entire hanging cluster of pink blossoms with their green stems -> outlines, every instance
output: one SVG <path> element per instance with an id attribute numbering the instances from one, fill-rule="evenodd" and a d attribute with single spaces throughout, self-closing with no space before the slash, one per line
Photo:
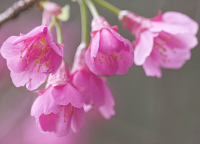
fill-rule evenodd
<path id="1" fill-rule="evenodd" d="M 91 0 L 79 0 L 82 42 L 70 71 L 63 60 L 60 26 L 60 21 L 69 17 L 68 6 L 41 1 L 42 25 L 27 34 L 9 37 L 1 47 L 16 87 L 26 85 L 28 90 L 36 90 L 49 76 L 45 90 L 37 91 L 39 96 L 31 109 L 41 132 L 54 132 L 58 137 L 70 130 L 78 133 L 90 109 L 110 119 L 115 115 L 115 101 L 102 75 L 125 75 L 135 63 L 143 66 L 147 76 L 160 78 L 161 68 L 181 68 L 198 44 L 198 24 L 184 14 L 159 11 L 158 16 L 148 19 L 103 0 L 93 1 L 114 12 L 135 41 L 121 36 L 118 26 L 111 26 L 100 16 Z M 90 42 L 85 3 L 93 15 Z M 51 34 L 53 26 L 57 42 Z"/>

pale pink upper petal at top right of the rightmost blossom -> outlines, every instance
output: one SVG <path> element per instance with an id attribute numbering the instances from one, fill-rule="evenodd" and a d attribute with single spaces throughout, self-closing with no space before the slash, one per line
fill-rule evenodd
<path id="1" fill-rule="evenodd" d="M 170 24 L 185 26 L 190 30 L 190 33 L 192 33 L 193 35 L 196 35 L 198 32 L 198 23 L 192 20 L 189 16 L 180 12 L 166 12 L 163 14 L 162 20 Z"/>

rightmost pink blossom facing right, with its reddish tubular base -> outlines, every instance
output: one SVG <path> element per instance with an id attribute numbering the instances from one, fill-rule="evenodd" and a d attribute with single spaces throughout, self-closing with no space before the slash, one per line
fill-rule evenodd
<path id="1" fill-rule="evenodd" d="M 147 19 L 121 11 L 119 20 L 135 36 L 136 65 L 142 65 L 147 76 L 161 77 L 161 67 L 181 68 L 198 44 L 198 23 L 179 12 L 166 12 Z"/>

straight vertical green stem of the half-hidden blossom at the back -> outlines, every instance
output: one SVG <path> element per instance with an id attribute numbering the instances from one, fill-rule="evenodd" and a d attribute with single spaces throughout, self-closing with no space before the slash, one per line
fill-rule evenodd
<path id="1" fill-rule="evenodd" d="M 85 2 L 80 2 L 80 11 L 81 11 L 81 28 L 82 28 L 82 42 L 88 45 L 88 27 L 87 27 L 87 11 Z"/>

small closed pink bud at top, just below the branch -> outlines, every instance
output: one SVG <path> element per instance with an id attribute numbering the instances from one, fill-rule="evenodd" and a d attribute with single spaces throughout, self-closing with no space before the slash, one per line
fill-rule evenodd
<path id="1" fill-rule="evenodd" d="M 41 1 L 40 5 L 43 8 L 43 13 L 42 13 L 43 25 L 48 26 L 51 22 L 51 16 L 57 16 L 62 12 L 62 8 L 54 2 Z"/>

